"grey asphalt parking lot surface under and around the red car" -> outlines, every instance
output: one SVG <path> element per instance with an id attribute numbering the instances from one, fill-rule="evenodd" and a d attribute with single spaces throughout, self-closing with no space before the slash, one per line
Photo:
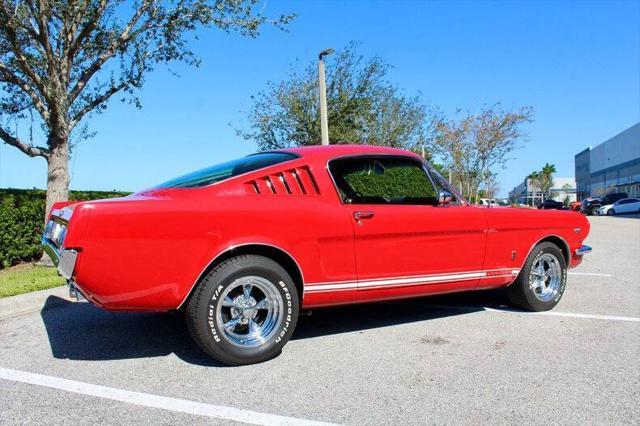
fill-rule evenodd
<path id="1" fill-rule="evenodd" d="M 0 321 L 0 423 L 638 424 L 640 217 L 590 220 L 550 313 L 500 292 L 318 310 L 259 365 L 216 365 L 168 314 Z"/>

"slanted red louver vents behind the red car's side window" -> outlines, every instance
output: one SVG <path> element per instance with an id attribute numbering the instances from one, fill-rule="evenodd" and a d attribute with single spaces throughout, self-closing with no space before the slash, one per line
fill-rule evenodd
<path id="1" fill-rule="evenodd" d="M 266 175 L 243 184 L 248 194 L 318 195 L 318 185 L 307 166 Z"/>

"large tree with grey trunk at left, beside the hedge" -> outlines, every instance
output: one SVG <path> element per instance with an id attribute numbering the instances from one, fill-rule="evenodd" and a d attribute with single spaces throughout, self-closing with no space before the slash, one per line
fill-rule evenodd
<path id="1" fill-rule="evenodd" d="M 200 27 L 255 37 L 263 24 L 292 18 L 269 19 L 258 2 L 0 0 L 0 139 L 46 159 L 47 211 L 67 198 L 69 140 L 88 114 L 116 94 L 139 106 L 136 89 L 158 64 L 197 65 L 188 37 Z M 33 116 L 42 143 L 11 130 Z"/>

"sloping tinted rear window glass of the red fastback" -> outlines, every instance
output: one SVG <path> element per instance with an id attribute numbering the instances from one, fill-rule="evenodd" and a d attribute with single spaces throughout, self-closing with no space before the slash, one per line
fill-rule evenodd
<path id="1" fill-rule="evenodd" d="M 217 164 L 161 183 L 156 188 L 196 188 L 298 158 L 287 152 L 264 152 Z"/>

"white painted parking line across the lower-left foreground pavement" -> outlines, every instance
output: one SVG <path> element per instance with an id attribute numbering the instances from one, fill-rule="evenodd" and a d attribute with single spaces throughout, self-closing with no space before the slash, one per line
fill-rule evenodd
<path id="1" fill-rule="evenodd" d="M 91 383 L 76 380 L 62 379 L 60 377 L 45 376 L 42 374 L 28 373 L 26 371 L 11 370 L 0 367 L 0 379 L 13 382 L 28 383 L 30 385 L 44 386 L 73 392 L 81 395 L 95 396 L 98 398 L 126 402 L 141 405 L 143 407 L 159 408 L 162 410 L 192 414 L 195 416 L 212 417 L 216 419 L 232 420 L 256 425 L 328 425 L 330 423 L 297 419 L 295 417 L 278 416 L 274 414 L 258 413 L 256 411 L 242 410 L 240 408 L 211 405 L 186 399 L 170 398 L 160 395 L 152 395 L 142 392 L 132 392 L 108 386 L 93 385 Z"/>

